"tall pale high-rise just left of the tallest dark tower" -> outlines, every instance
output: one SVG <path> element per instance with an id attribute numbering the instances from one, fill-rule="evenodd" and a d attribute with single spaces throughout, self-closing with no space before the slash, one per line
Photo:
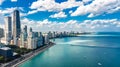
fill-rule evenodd
<path id="1" fill-rule="evenodd" d="M 11 17 L 5 17 L 5 41 L 6 45 L 10 43 L 10 40 L 12 39 L 12 21 Z"/>

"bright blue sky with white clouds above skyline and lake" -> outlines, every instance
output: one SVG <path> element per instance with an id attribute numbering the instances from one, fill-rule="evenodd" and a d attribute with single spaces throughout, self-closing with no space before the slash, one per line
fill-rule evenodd
<path id="1" fill-rule="evenodd" d="M 15 9 L 34 31 L 120 32 L 120 0 L 0 0 L 0 27 Z"/>

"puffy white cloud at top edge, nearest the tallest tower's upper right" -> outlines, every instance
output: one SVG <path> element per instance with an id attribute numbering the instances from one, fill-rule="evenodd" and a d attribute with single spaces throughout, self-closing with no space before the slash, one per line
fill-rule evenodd
<path id="1" fill-rule="evenodd" d="M 68 0 L 62 3 L 56 3 L 55 0 L 37 0 L 30 6 L 31 9 L 38 11 L 62 11 L 64 9 L 78 7 L 82 5 L 82 2 L 76 2 L 75 0 Z"/>

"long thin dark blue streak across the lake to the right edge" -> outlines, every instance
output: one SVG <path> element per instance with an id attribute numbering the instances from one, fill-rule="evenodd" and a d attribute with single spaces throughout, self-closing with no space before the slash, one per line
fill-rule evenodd
<path id="1" fill-rule="evenodd" d="M 113 49 L 120 49 L 120 47 L 118 47 L 118 46 L 96 46 L 96 45 L 71 45 L 71 46 L 89 47 L 89 48 L 113 48 Z"/>

